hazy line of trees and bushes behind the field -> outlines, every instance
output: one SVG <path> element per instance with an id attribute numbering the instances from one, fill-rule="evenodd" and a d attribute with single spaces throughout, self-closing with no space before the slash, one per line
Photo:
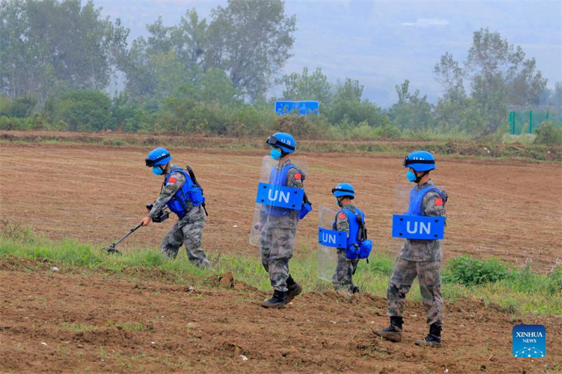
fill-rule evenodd
<path id="1" fill-rule="evenodd" d="M 162 18 L 129 46 L 129 29 L 89 0 L 9 0 L 0 6 L 0 128 L 121 129 L 248 135 L 291 128 L 311 137 L 400 138 L 410 134 L 494 135 L 509 105 L 562 106 L 520 46 L 497 32 L 473 33 L 466 62 L 448 52 L 434 74 L 433 105 L 396 86 L 383 109 L 362 98 L 356 79 L 331 83 L 317 68 L 276 76 L 291 57 L 296 17 L 282 0 L 230 0 L 209 20 L 195 9 L 177 25 Z M 119 93 L 110 93 L 116 81 Z M 268 98 L 273 85 L 282 98 Z M 273 102 L 318 100 L 320 115 L 273 114 Z"/>

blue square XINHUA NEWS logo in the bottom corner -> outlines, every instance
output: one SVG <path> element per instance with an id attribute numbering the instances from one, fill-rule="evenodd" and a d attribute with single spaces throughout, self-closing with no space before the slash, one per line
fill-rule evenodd
<path id="1" fill-rule="evenodd" d="M 513 351 L 517 358 L 544 357 L 547 353 L 547 330 L 542 325 L 515 325 Z"/>

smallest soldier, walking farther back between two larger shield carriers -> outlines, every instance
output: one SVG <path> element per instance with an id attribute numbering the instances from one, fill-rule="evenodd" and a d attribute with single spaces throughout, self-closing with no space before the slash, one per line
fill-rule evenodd
<path id="1" fill-rule="evenodd" d="M 356 251 L 348 251 L 348 248 L 357 248 L 359 245 L 358 234 L 364 229 L 365 213 L 351 203 L 351 200 L 355 199 L 355 191 L 349 183 L 339 183 L 332 189 L 332 194 L 336 196 L 337 204 L 341 208 L 336 214 L 333 229 L 346 232 L 347 236 L 346 248 L 337 249 L 338 263 L 336 272 L 332 276 L 332 283 L 336 290 L 345 289 L 349 293 L 358 293 L 359 287 L 353 284 L 351 277 L 355 274 L 359 258 Z M 358 218 L 361 219 L 361 226 Z"/>

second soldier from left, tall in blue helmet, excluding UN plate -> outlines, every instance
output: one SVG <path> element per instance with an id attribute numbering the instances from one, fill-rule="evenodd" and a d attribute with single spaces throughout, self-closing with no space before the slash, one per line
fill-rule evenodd
<path id="1" fill-rule="evenodd" d="M 271 146 L 271 157 L 278 161 L 270 173 L 270 185 L 303 189 L 305 175 L 290 159 L 296 148 L 292 135 L 275 133 L 266 140 Z M 261 303 L 262 307 L 278 308 L 292 301 L 302 292 L 289 273 L 289 260 L 293 257 L 299 211 L 277 206 L 262 206 L 260 212 L 259 247 L 261 263 L 269 273 L 273 297 Z"/>

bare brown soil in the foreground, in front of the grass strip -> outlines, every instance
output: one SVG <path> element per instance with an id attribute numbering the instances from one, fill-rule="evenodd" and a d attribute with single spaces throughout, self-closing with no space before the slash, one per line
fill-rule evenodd
<path id="1" fill-rule="evenodd" d="M 446 302 L 443 347 L 416 347 L 424 309 L 407 301 L 403 341 L 375 338 L 386 300 L 304 293 L 284 309 L 237 287 L 177 286 L 139 277 L 0 261 L 0 372 L 541 373 L 560 370 L 562 317 L 512 319 L 483 302 Z M 228 284 L 221 285 L 222 279 Z M 547 356 L 515 359 L 511 329 L 541 323 Z M 244 359 L 245 358 L 245 359 Z M 448 371 L 447 371 L 448 370 Z"/>

